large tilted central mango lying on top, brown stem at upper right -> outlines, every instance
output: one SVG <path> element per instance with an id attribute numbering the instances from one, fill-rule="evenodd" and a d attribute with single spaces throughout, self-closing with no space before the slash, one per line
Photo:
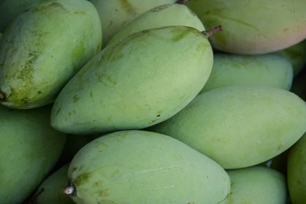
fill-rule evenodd
<path id="1" fill-rule="evenodd" d="M 157 124 L 190 103 L 212 66 L 211 45 L 194 28 L 134 33 L 106 47 L 74 75 L 54 103 L 51 125 L 88 135 Z"/>

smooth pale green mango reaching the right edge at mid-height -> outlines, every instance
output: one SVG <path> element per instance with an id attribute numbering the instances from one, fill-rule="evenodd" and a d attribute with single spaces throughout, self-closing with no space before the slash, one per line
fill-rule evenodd
<path id="1" fill-rule="evenodd" d="M 306 105 L 297 95 L 267 86 L 229 86 L 197 95 L 182 111 L 150 127 L 237 169 L 267 161 L 306 131 Z"/>

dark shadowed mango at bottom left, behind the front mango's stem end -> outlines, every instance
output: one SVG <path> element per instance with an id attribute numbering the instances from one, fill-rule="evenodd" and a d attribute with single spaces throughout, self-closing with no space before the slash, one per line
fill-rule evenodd
<path id="1" fill-rule="evenodd" d="M 67 185 L 69 164 L 49 175 L 36 190 L 33 200 L 35 204 L 73 204 L 73 200 L 62 194 L 63 186 Z"/>

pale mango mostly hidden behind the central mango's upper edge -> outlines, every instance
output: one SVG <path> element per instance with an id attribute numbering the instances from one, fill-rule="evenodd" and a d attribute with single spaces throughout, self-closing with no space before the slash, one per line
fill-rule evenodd
<path id="1" fill-rule="evenodd" d="M 199 31 L 205 31 L 203 23 L 187 6 L 176 3 L 164 4 L 135 18 L 111 38 L 107 46 L 132 33 L 170 25 L 185 25 Z"/>

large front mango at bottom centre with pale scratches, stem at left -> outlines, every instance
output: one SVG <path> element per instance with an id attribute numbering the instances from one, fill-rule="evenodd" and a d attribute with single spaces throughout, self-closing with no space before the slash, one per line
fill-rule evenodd
<path id="1" fill-rule="evenodd" d="M 71 161 L 68 181 L 77 204 L 225 203 L 230 192 L 216 162 L 169 136 L 137 130 L 85 145 Z"/>

